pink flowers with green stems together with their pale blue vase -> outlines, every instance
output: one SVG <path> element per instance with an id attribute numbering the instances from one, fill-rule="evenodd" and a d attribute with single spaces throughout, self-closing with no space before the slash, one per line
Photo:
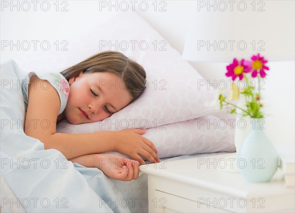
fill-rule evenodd
<path id="1" fill-rule="evenodd" d="M 260 54 L 251 57 L 251 60 L 238 61 L 234 59 L 227 68 L 227 77 L 231 77 L 235 81 L 238 77 L 237 83 L 244 81 L 245 87 L 239 91 L 239 89 L 234 86 L 232 88 L 232 93 L 240 93 L 242 96 L 242 102 L 239 104 L 233 104 L 229 102 L 226 96 L 219 95 L 219 103 L 222 108 L 224 105 L 231 105 L 234 108 L 230 113 L 236 113 L 237 118 L 240 117 L 250 117 L 253 119 L 251 121 L 253 128 L 251 133 L 242 142 L 239 149 L 237 149 L 237 167 L 241 175 L 248 182 L 267 182 L 274 175 L 278 166 L 278 154 L 269 139 L 264 133 L 264 127 L 259 125 L 265 123 L 262 118 L 264 114 L 261 111 L 263 104 L 261 103 L 261 78 L 266 77 L 266 70 L 269 67 L 266 66 L 267 61 Z M 258 78 L 258 87 L 256 88 L 255 78 Z M 235 85 L 235 84 L 233 84 Z M 235 89 L 234 89 L 235 88 Z M 233 95 L 231 95 L 233 96 Z M 240 100 L 239 100 L 240 101 Z M 236 122 L 237 123 L 237 122 Z M 250 123 L 248 123 L 250 124 Z M 238 138 L 238 134 L 242 134 L 245 131 L 237 131 L 235 135 L 235 144 Z M 236 148 L 237 145 L 236 145 Z"/>

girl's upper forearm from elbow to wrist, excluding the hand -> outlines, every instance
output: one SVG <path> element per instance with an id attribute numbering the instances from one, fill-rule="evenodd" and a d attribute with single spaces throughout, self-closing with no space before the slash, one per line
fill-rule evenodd
<path id="1" fill-rule="evenodd" d="M 59 150 L 67 159 L 81 155 L 115 151 L 116 132 L 102 131 L 89 134 L 55 133 L 41 139 L 44 149 Z"/>

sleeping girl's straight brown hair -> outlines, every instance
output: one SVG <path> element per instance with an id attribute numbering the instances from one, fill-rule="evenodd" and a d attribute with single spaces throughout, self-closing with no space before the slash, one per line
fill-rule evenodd
<path id="1" fill-rule="evenodd" d="M 116 51 L 100 52 L 88 59 L 60 72 L 67 81 L 70 77 L 83 73 L 111 72 L 118 75 L 126 84 L 133 100 L 146 90 L 146 71 L 135 61 Z"/>

